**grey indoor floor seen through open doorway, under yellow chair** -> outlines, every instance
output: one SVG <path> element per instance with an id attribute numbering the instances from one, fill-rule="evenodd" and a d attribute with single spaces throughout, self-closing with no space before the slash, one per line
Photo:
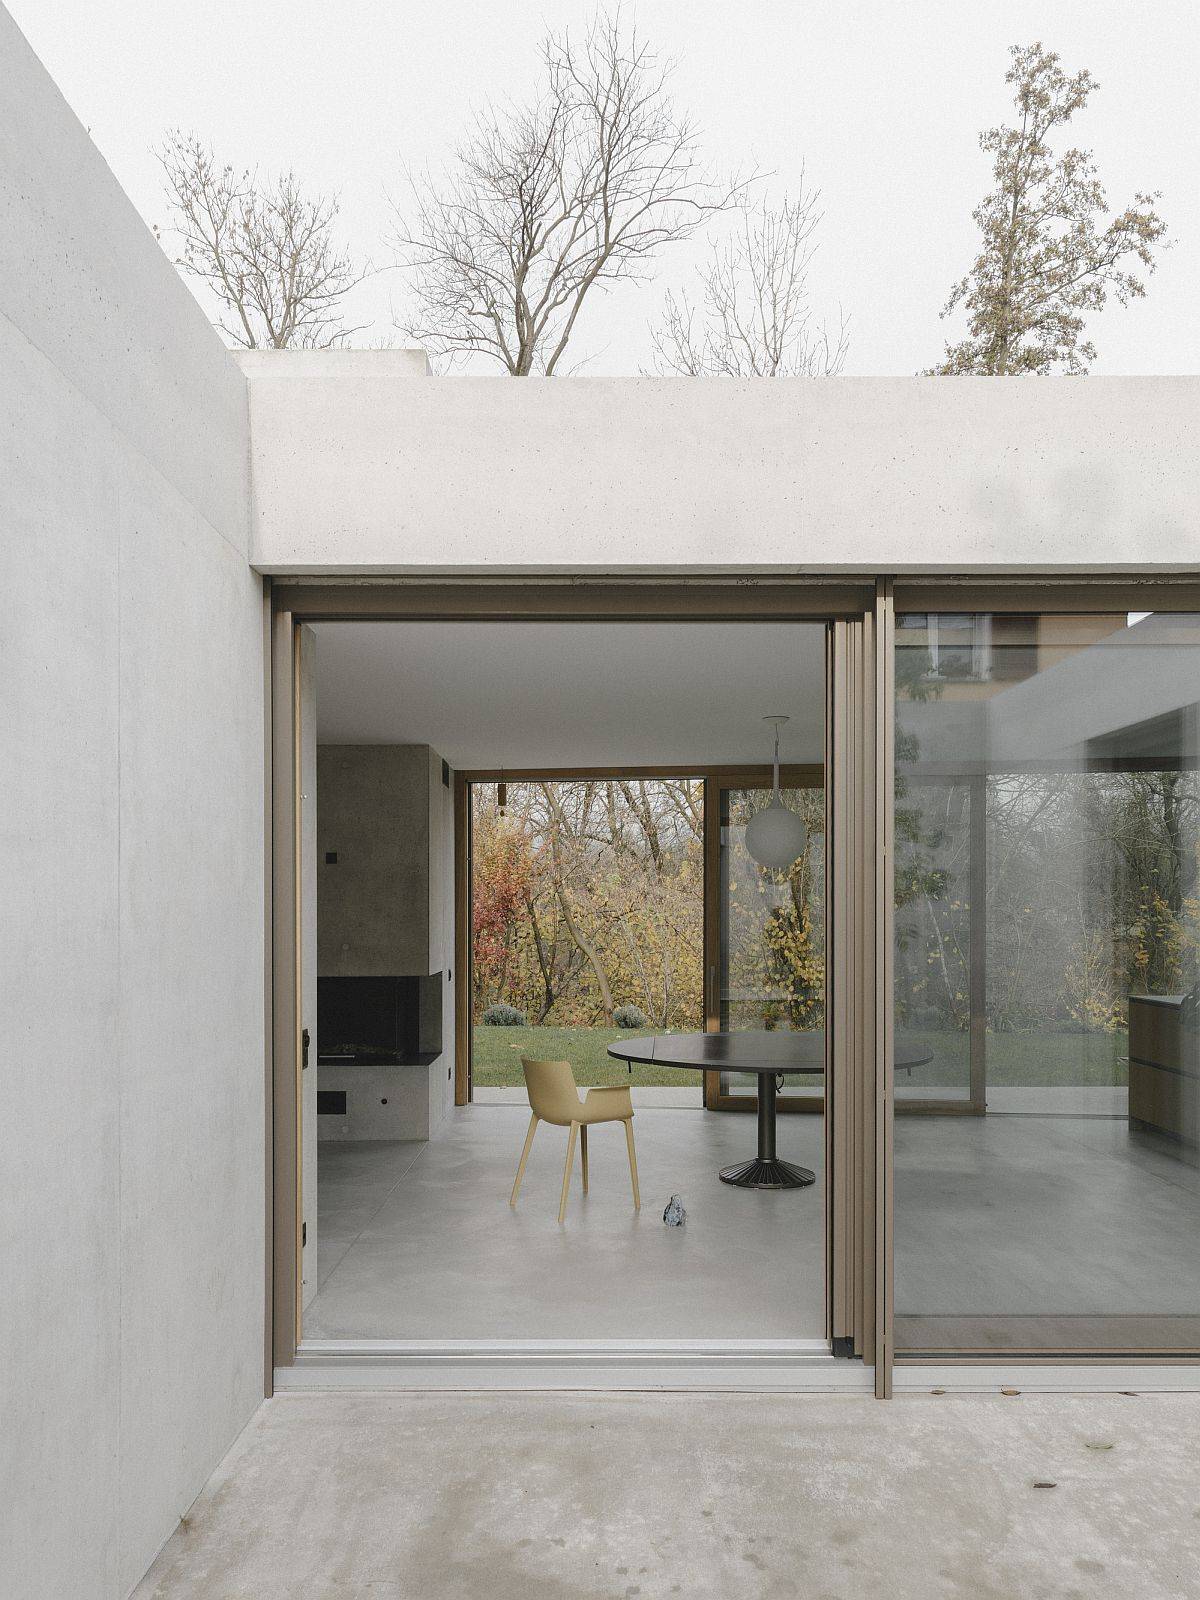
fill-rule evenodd
<path id="1" fill-rule="evenodd" d="M 717 1170 L 754 1155 L 752 1117 L 638 1110 L 642 1211 L 624 1130 L 590 1133 L 558 1226 L 566 1133 L 538 1130 L 509 1206 L 525 1106 L 472 1106 L 427 1144 L 320 1146 L 318 1293 L 307 1339 L 822 1339 L 822 1118 L 779 1120 L 779 1152 L 810 1189 L 731 1189 Z M 685 1227 L 666 1227 L 677 1192 Z"/>

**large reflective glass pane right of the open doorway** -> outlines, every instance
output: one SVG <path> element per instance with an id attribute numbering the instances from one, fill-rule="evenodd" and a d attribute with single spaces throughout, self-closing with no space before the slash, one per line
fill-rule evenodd
<path id="1" fill-rule="evenodd" d="M 899 1350 L 1200 1347 L 1198 694 L 1194 616 L 898 619 Z"/>

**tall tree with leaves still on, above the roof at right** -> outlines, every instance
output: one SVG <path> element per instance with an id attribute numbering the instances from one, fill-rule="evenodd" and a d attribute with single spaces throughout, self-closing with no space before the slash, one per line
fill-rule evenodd
<path id="1" fill-rule="evenodd" d="M 1010 51 L 1018 120 L 979 136 L 995 187 L 976 208 L 981 246 L 950 291 L 942 317 L 968 312 L 968 336 L 947 344 L 934 373 L 1086 373 L 1096 358 L 1083 338 L 1088 314 L 1112 293 L 1122 306 L 1146 294 L 1138 267 L 1152 272 L 1166 224 L 1158 194 L 1138 192 L 1106 221 L 1107 202 L 1090 150 L 1058 158 L 1050 141 L 1098 86 L 1090 72 L 1069 77 L 1040 43 Z"/>

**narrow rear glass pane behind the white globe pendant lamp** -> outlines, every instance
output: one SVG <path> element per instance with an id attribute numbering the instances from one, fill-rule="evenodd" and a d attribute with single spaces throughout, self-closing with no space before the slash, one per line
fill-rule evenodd
<path id="1" fill-rule="evenodd" d="M 826 1019 L 826 819 L 821 789 L 782 789 L 805 822 L 805 848 L 786 872 L 760 867 L 746 829 L 771 789 L 722 789 L 717 974 L 722 1030 L 819 1032 Z M 784 1078 L 781 1094 L 818 1096 L 819 1078 Z M 722 1074 L 723 1094 L 754 1096 L 754 1074 Z"/>

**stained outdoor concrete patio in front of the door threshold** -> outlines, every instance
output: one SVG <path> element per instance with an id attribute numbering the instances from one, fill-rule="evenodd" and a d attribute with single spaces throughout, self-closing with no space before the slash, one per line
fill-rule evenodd
<path id="1" fill-rule="evenodd" d="M 1200 1395 L 285 1395 L 134 1600 L 1182 1600 L 1198 1445 Z"/>

